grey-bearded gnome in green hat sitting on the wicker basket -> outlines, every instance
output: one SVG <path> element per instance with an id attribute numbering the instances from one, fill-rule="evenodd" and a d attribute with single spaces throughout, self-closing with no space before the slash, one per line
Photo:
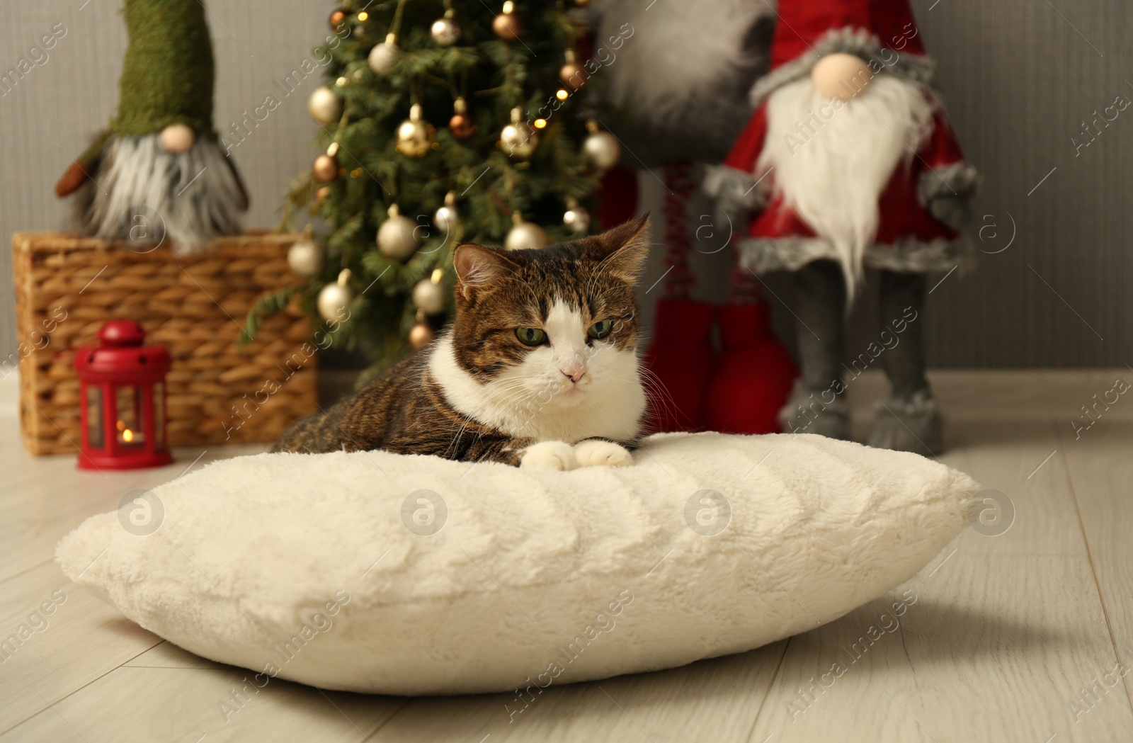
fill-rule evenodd
<path id="1" fill-rule="evenodd" d="M 213 128 L 213 53 L 198 0 L 126 0 L 118 113 L 56 185 L 85 236 L 198 251 L 248 208 Z M 142 228 L 142 229 L 138 229 Z"/>

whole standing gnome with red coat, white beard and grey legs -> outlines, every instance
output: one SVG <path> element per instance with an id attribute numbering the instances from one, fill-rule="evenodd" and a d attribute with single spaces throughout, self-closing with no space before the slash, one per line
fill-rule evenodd
<path id="1" fill-rule="evenodd" d="M 979 177 L 934 70 L 908 0 L 780 0 L 755 113 L 705 178 L 743 265 L 794 273 L 802 376 L 780 413 L 786 433 L 849 438 L 843 373 L 877 364 L 892 398 L 870 445 L 943 449 L 925 374 L 927 274 L 966 263 L 959 230 Z M 845 366 L 845 313 L 867 266 L 879 270 L 883 330 Z"/>

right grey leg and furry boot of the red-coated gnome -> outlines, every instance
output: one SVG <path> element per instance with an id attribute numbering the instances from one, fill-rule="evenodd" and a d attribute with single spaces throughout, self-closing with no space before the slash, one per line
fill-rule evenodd
<path id="1" fill-rule="evenodd" d="M 925 374 L 926 285 L 923 273 L 881 272 L 881 327 L 892 328 L 896 344 L 881 353 L 893 394 L 877 407 L 870 446 L 925 455 L 944 451 L 944 419 Z"/>

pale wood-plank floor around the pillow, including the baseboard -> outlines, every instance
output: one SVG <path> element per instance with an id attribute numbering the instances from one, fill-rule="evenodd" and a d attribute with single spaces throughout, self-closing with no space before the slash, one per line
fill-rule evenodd
<path id="1" fill-rule="evenodd" d="M 1133 675 L 1124 676 L 1133 665 L 1133 396 L 1094 413 L 1088 429 L 1072 426 L 1089 422 L 1082 405 L 1119 376 L 1133 379 L 1127 369 L 936 375 L 949 413 L 943 460 L 1004 493 L 1014 516 L 998 536 L 968 530 L 895 590 L 915 597 L 902 616 L 881 599 L 742 655 L 552 688 L 511 721 L 511 694 L 401 699 L 284 681 L 225 719 L 220 701 L 245 672 L 125 620 L 66 580 L 52 550 L 131 489 L 258 450 L 185 450 L 161 470 L 78 472 L 73 456 L 24 451 L 8 379 L 0 639 L 24 622 L 40 630 L 0 664 L 0 743 L 1133 741 Z M 880 391 L 876 377 L 851 385 L 862 435 Z M 29 620 L 43 601 L 56 603 L 53 614 Z M 853 650 L 871 626 L 880 639 Z"/>

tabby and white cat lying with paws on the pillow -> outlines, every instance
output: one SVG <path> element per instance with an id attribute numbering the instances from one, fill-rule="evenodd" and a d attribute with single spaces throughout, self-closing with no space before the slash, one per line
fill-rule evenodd
<path id="1" fill-rule="evenodd" d="M 632 464 L 646 410 L 633 285 L 648 249 L 648 216 L 537 250 L 460 246 L 457 316 L 441 338 L 293 424 L 273 451 Z"/>

